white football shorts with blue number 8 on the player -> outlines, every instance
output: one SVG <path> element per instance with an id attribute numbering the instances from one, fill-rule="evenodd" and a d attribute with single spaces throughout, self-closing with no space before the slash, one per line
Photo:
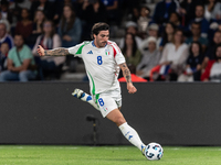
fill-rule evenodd
<path id="1" fill-rule="evenodd" d="M 96 96 L 93 96 L 93 100 L 98 106 L 103 118 L 105 118 L 110 111 L 122 107 L 120 88 L 104 91 Z"/>

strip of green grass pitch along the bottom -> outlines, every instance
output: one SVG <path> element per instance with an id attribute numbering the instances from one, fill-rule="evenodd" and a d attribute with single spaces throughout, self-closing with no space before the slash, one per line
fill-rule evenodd
<path id="1" fill-rule="evenodd" d="M 0 165 L 221 165 L 221 147 L 162 147 L 148 161 L 134 146 L 0 145 Z"/>

